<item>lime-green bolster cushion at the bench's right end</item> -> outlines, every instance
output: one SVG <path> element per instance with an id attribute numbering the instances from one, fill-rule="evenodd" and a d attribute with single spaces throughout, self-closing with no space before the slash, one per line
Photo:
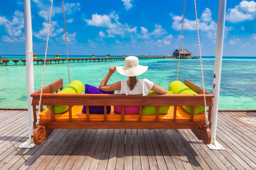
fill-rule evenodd
<path id="1" fill-rule="evenodd" d="M 181 81 L 173 81 L 169 84 L 169 91 L 174 91 L 174 94 L 197 94 Z M 188 113 L 191 114 L 191 106 L 182 106 Z M 194 115 L 198 115 L 204 111 L 204 106 L 195 106 Z"/>

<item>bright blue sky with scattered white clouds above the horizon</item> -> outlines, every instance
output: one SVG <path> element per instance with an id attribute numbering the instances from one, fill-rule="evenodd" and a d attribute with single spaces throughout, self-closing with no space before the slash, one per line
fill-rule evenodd
<path id="1" fill-rule="evenodd" d="M 179 48 L 183 1 L 65 0 L 69 55 L 172 55 Z M 197 0 L 203 56 L 215 55 L 218 1 Z M 50 0 L 31 0 L 33 53 L 44 55 Z M 256 56 L 256 1 L 228 0 L 223 56 Z M 0 55 L 25 55 L 23 1 L 0 6 Z M 199 55 L 193 0 L 186 1 L 181 49 Z M 49 55 L 65 55 L 62 1 L 53 1 Z"/>

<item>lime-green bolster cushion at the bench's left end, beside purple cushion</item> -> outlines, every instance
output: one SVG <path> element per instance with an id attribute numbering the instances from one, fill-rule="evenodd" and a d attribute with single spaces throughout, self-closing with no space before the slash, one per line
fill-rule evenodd
<path id="1" fill-rule="evenodd" d="M 82 94 L 84 86 L 81 81 L 72 81 L 65 89 L 58 92 L 58 94 Z M 47 106 L 50 110 L 50 106 Z M 54 106 L 54 113 L 60 114 L 68 110 L 68 106 Z"/>

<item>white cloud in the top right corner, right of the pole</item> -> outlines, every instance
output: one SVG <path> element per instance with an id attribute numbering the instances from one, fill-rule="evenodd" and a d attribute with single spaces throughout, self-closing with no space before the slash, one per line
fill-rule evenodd
<path id="1" fill-rule="evenodd" d="M 229 8 L 226 20 L 230 23 L 239 23 L 242 21 L 251 21 L 256 15 L 255 1 L 241 1 L 235 8 Z"/>

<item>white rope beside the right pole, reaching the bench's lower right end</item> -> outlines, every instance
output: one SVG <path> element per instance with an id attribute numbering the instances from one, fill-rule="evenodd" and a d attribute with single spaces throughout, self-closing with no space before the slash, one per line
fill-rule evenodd
<path id="1" fill-rule="evenodd" d="M 195 12 L 196 12 L 196 0 L 194 0 L 194 4 L 195 4 Z M 206 111 L 206 92 L 205 92 L 205 86 L 204 86 L 204 81 L 203 81 L 203 64 L 202 64 L 201 45 L 200 45 L 199 30 L 198 30 L 197 12 L 196 12 L 196 29 L 197 29 L 197 33 L 198 33 L 198 46 L 199 46 L 199 56 L 200 56 L 201 74 L 202 74 L 202 83 L 203 83 L 203 100 L 204 100 L 204 104 L 205 104 L 206 126 L 208 127 L 209 120 L 208 120 L 208 112 Z"/>

